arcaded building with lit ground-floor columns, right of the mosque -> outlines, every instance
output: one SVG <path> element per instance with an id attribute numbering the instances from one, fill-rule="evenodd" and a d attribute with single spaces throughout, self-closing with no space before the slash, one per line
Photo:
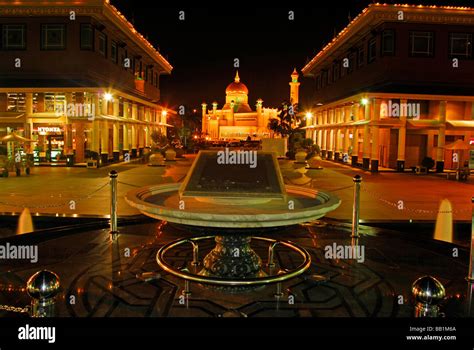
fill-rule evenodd
<path id="1" fill-rule="evenodd" d="M 324 157 L 377 172 L 455 168 L 474 144 L 474 10 L 372 4 L 303 69 Z"/>

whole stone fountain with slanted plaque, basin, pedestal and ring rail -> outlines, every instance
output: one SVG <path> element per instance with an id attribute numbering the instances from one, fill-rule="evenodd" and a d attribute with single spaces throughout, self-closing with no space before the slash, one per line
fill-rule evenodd
<path id="1" fill-rule="evenodd" d="M 291 242 L 255 237 L 255 233 L 319 219 L 336 209 L 340 200 L 319 190 L 285 186 L 274 153 L 258 152 L 255 166 L 235 164 L 236 161 L 222 164 L 218 157 L 217 151 L 201 151 L 183 183 L 147 186 L 127 193 L 127 202 L 144 215 L 216 231 L 212 236 L 182 239 L 163 246 L 157 254 L 158 264 L 186 281 L 232 291 L 281 282 L 303 273 L 311 263 L 303 248 Z M 199 270 L 197 242 L 209 238 L 215 238 L 216 246 L 203 259 Z M 270 269 L 264 271 L 262 259 L 250 246 L 252 240 L 270 244 Z M 166 252 L 185 243 L 193 246 L 194 271 L 178 270 L 166 262 Z M 271 268 L 273 249 L 280 244 L 303 258 L 296 269 Z"/>

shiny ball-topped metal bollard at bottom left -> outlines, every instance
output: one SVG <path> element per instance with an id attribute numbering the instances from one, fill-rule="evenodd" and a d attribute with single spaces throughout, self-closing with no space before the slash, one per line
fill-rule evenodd
<path id="1" fill-rule="evenodd" d="M 59 288 L 59 276 L 48 270 L 38 271 L 28 279 L 26 289 L 31 297 L 31 317 L 55 316 Z"/>

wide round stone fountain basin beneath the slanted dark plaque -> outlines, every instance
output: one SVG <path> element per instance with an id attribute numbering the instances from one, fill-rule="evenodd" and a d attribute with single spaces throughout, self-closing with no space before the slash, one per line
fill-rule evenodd
<path id="1" fill-rule="evenodd" d="M 181 199 L 181 184 L 147 186 L 127 193 L 127 203 L 149 217 L 183 225 L 221 228 L 279 227 L 323 217 L 341 204 L 328 192 L 286 185 L 286 201 L 270 200 L 247 206 Z M 291 209 L 293 208 L 293 209 Z"/>

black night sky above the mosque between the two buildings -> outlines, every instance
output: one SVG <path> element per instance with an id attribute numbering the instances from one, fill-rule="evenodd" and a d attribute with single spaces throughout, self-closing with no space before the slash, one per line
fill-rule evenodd
<path id="1" fill-rule="evenodd" d="M 200 110 L 201 102 L 222 107 L 225 88 L 233 81 L 239 58 L 241 81 L 249 88 L 249 104 L 258 98 L 266 107 L 289 99 L 290 74 L 305 65 L 372 1 L 314 1 L 315 8 L 255 8 L 251 3 L 225 2 L 214 8 L 158 8 L 150 1 L 111 0 L 160 50 L 174 70 L 161 77 L 162 103 Z M 471 5 L 472 0 L 386 1 L 387 3 Z M 238 5 L 237 5 L 238 4 Z M 333 5 L 328 7 L 328 5 Z M 258 5 L 260 6 L 260 5 Z M 185 11 L 185 21 L 178 13 Z M 288 11 L 295 20 L 288 20 Z M 300 104 L 310 107 L 312 81 L 300 78 Z"/>

